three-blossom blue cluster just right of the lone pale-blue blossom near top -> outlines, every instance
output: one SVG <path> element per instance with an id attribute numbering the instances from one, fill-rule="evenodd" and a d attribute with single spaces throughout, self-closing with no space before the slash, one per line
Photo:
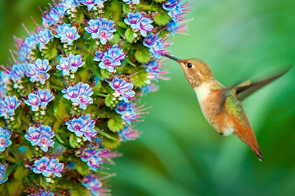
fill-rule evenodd
<path id="1" fill-rule="evenodd" d="M 113 32 L 116 31 L 114 21 L 106 18 L 98 18 L 96 20 L 89 20 L 89 26 L 85 27 L 85 31 L 91 34 L 93 39 L 100 39 L 101 44 L 106 44 L 106 41 L 112 39 Z"/>

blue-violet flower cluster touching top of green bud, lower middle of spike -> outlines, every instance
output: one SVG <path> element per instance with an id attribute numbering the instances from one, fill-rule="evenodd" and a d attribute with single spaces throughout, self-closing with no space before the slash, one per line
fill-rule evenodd
<path id="1" fill-rule="evenodd" d="M 68 130 L 74 132 L 76 136 L 82 137 L 83 135 L 87 140 L 91 142 L 91 138 L 94 138 L 97 131 L 94 128 L 95 120 L 91 119 L 90 114 L 86 114 L 85 116 L 81 115 L 79 118 L 73 118 L 65 123 L 67 125 Z M 81 141 L 81 139 L 80 139 Z"/>

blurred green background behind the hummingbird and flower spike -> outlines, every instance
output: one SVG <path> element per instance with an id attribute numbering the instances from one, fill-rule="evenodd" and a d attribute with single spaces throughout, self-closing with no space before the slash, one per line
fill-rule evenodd
<path id="1" fill-rule="evenodd" d="M 184 0 L 183 0 L 184 1 Z M 41 23 L 45 0 L 2 0 L 0 63 L 14 49 L 12 35 Z M 295 61 L 294 0 L 196 0 L 190 35 L 170 47 L 175 57 L 200 58 L 215 79 L 235 84 L 277 65 Z M 171 80 L 143 97 L 153 105 L 136 141 L 118 148 L 109 172 L 113 196 L 295 195 L 295 68 L 243 103 L 265 162 L 236 136 L 222 137 L 203 117 L 181 67 Z"/>

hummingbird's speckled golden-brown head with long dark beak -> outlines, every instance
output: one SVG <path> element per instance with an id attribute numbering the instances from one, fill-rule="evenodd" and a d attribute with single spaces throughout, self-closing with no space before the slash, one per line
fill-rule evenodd
<path id="1" fill-rule="evenodd" d="M 213 78 L 211 68 L 201 59 L 178 59 L 169 55 L 165 55 L 165 57 L 173 59 L 181 65 L 186 80 L 193 89 Z"/>

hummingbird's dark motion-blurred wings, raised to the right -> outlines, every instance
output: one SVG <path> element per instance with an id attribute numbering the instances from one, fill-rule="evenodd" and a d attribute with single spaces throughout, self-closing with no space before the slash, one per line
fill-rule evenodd
<path id="1" fill-rule="evenodd" d="M 260 80 L 260 81 L 255 81 L 255 80 L 247 80 L 246 82 L 243 82 L 241 84 L 237 83 L 235 85 L 232 85 L 230 87 L 224 88 L 222 89 L 222 93 L 221 93 L 221 102 L 220 102 L 220 109 L 222 109 L 222 107 L 225 104 L 227 93 L 228 92 L 232 92 L 235 97 L 237 98 L 237 100 L 242 101 L 244 100 L 246 97 L 248 97 L 249 95 L 253 94 L 255 91 L 257 91 L 258 89 L 261 89 L 262 87 L 264 87 L 266 84 L 271 83 L 272 81 L 274 81 L 275 79 L 281 77 L 282 75 L 286 74 L 291 68 L 293 67 L 293 64 L 289 65 L 286 69 L 284 69 L 281 72 L 278 72 L 277 74 L 268 77 L 267 79 L 264 80 Z"/>

